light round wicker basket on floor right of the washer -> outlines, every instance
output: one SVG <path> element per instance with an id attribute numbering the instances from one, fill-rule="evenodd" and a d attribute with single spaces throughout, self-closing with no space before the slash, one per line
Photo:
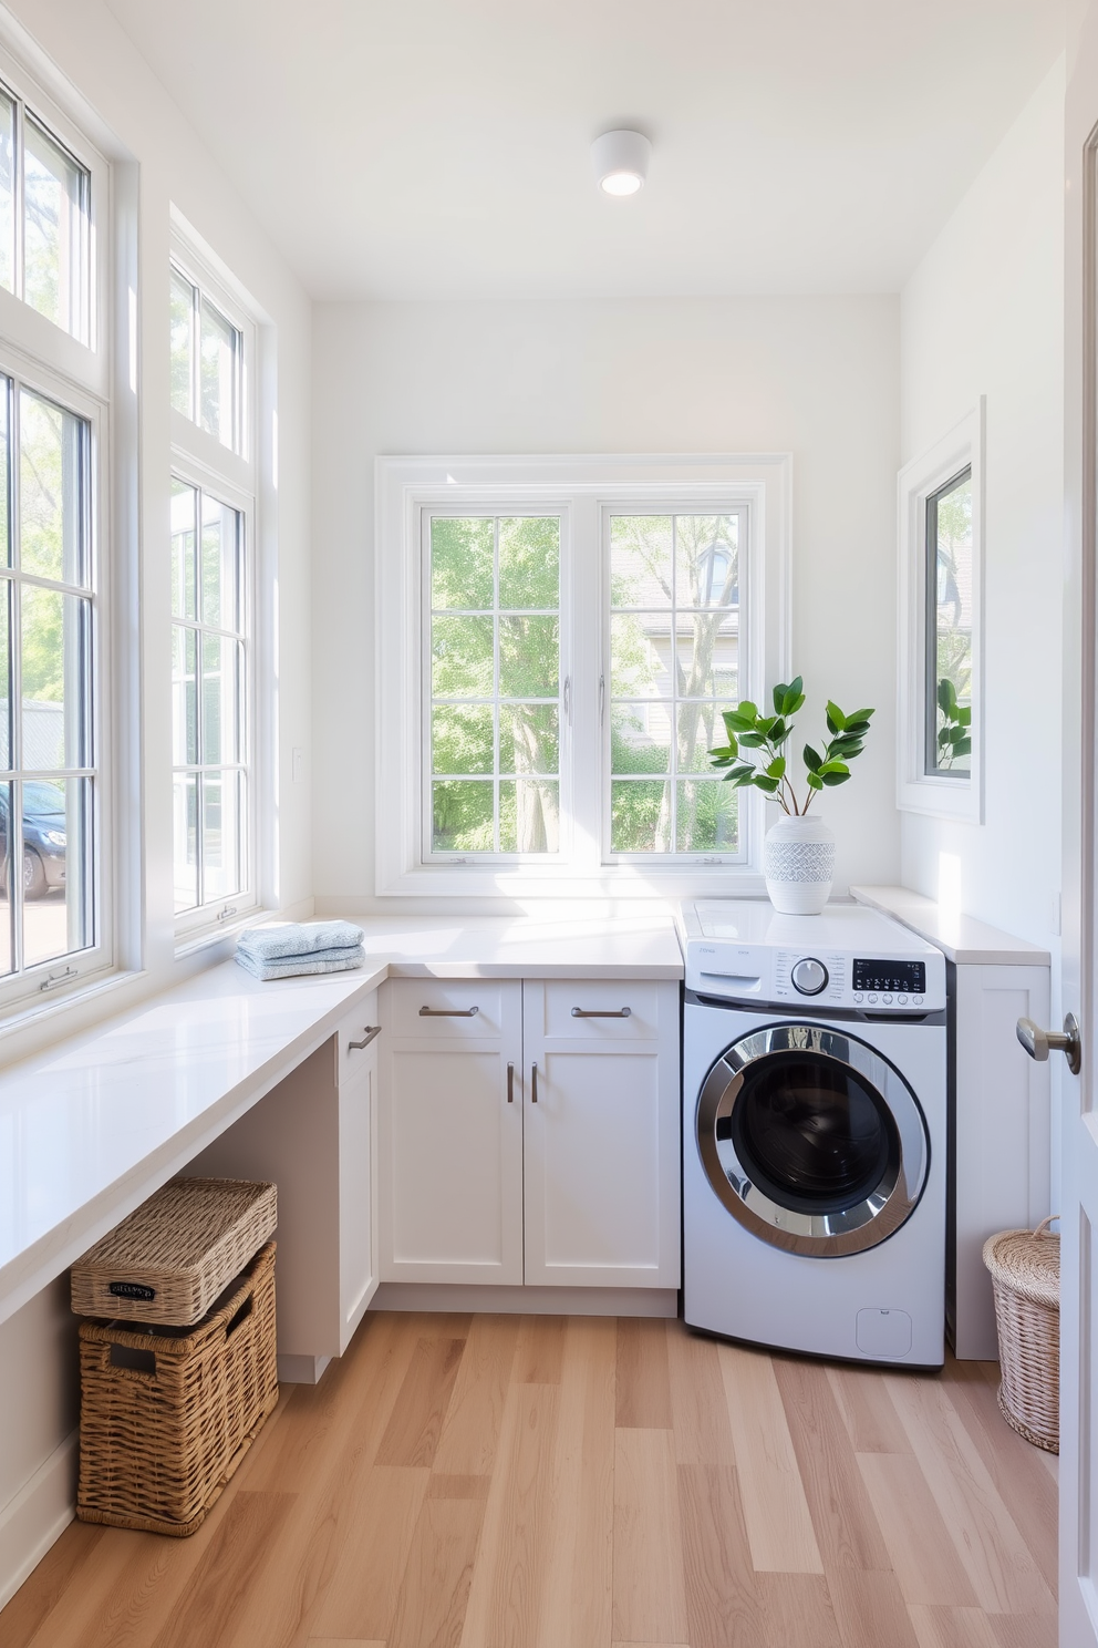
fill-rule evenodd
<path id="1" fill-rule="evenodd" d="M 1055 1218 L 1055 1215 L 1052 1215 Z M 1060 1238 L 1001 1231 L 984 1243 L 999 1328 L 999 1409 L 1019 1435 L 1060 1452 Z"/>

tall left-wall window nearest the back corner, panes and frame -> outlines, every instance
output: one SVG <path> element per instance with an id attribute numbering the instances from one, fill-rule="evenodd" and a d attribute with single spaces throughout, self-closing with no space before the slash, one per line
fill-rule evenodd
<path id="1" fill-rule="evenodd" d="M 170 279 L 173 883 L 191 941 L 258 901 L 255 326 L 191 249 Z"/>

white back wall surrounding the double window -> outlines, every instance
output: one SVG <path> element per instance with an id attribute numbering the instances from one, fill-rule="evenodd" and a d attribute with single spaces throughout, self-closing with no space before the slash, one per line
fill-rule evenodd
<path id="1" fill-rule="evenodd" d="M 318 910 L 374 903 L 379 453 L 792 450 L 793 667 L 817 715 L 825 697 L 879 707 L 826 801 L 836 890 L 896 878 L 897 323 L 889 297 L 316 308 Z"/>

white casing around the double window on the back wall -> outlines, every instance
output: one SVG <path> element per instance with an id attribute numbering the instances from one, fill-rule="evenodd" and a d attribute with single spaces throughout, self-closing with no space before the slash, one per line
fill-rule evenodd
<path id="1" fill-rule="evenodd" d="M 724 514 L 741 542 L 737 697 L 764 702 L 789 669 L 789 453 L 747 456 L 379 458 L 377 892 L 454 897 L 655 897 L 761 893 L 764 798 L 741 791 L 739 850 L 609 852 L 611 514 Z M 428 748 L 425 590 L 431 516 L 555 514 L 560 582 L 560 849 L 545 854 L 433 852 L 425 796 Z"/>

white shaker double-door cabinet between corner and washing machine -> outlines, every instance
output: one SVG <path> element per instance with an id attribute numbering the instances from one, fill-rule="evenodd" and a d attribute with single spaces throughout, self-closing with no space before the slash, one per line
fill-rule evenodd
<path id="1" fill-rule="evenodd" d="M 677 982 L 402 979 L 382 1010 L 382 1280 L 678 1287 Z"/>

